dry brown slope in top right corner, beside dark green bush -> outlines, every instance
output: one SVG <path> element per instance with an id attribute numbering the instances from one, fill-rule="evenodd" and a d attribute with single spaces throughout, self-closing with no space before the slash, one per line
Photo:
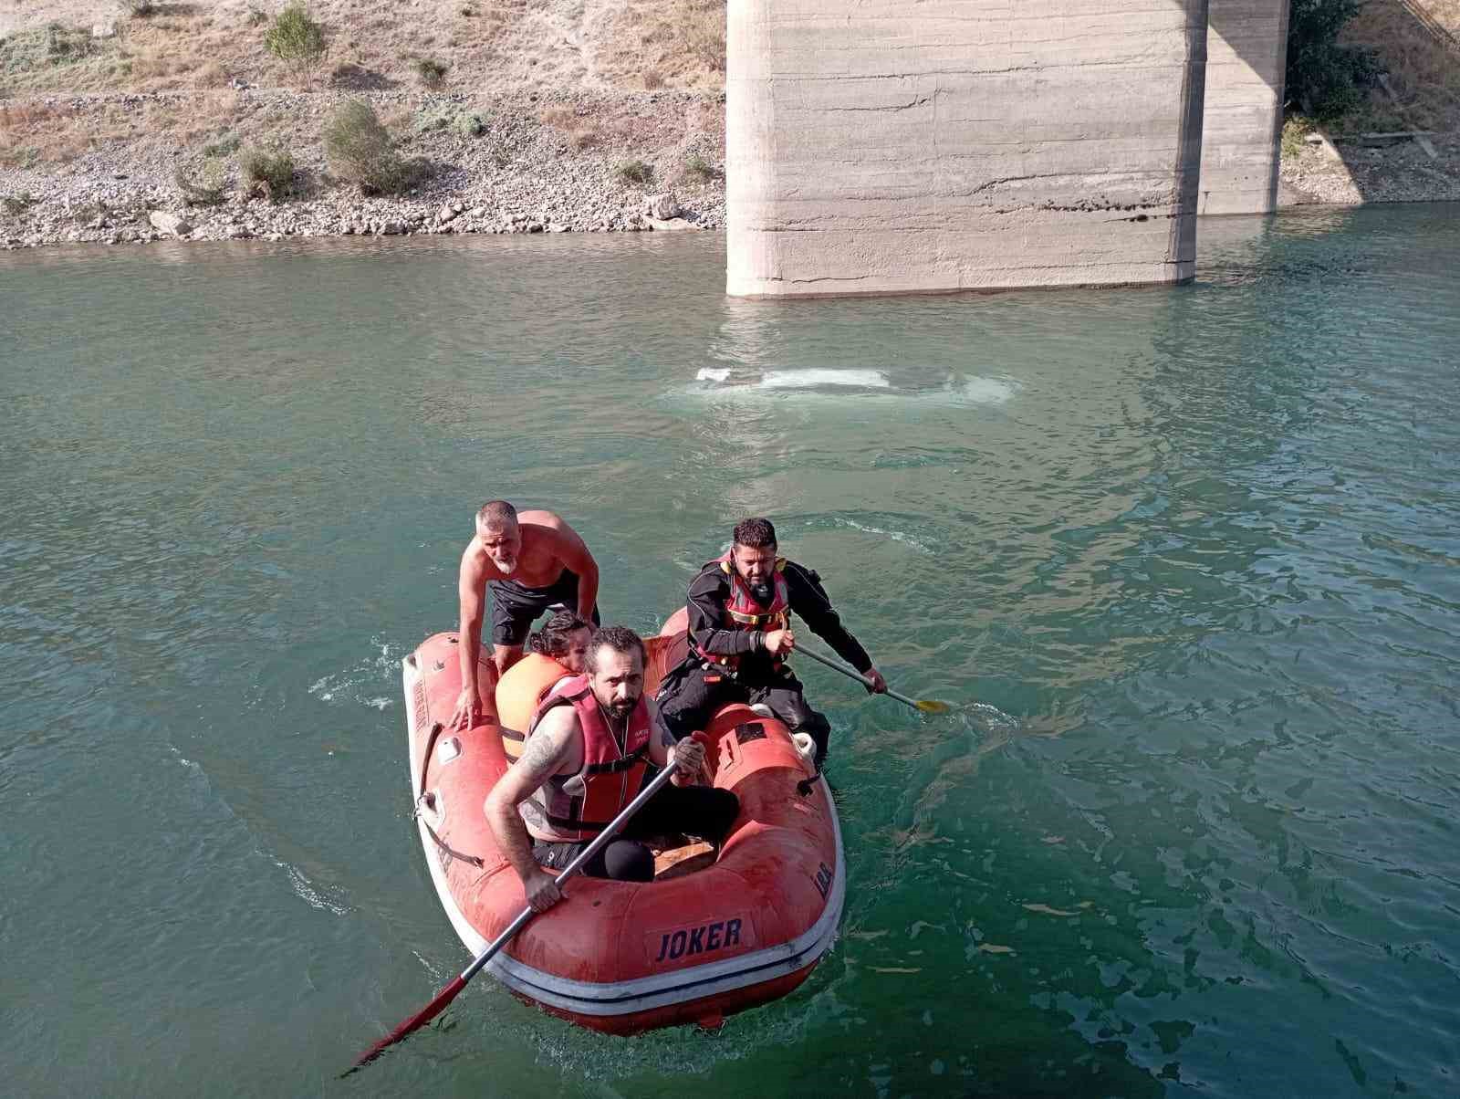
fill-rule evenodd
<path id="1" fill-rule="evenodd" d="M 1399 108 L 1375 89 L 1334 129 L 1460 130 L 1460 0 L 1369 0 L 1343 39 L 1380 51 Z"/>

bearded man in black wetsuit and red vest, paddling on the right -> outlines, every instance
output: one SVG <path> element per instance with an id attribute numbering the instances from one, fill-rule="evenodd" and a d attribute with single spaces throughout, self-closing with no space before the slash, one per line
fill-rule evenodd
<path id="1" fill-rule="evenodd" d="M 660 716 L 676 738 L 702 729 L 727 703 L 750 703 L 768 709 L 791 732 L 809 732 L 821 767 L 831 723 L 806 704 L 800 680 L 785 665 L 796 647 L 791 614 L 872 680 L 870 690 L 888 688 L 867 650 L 841 624 L 821 577 L 775 555 L 775 528 L 768 519 L 736 526 L 730 552 L 691 582 L 688 609 L 689 649 L 658 691 Z"/>

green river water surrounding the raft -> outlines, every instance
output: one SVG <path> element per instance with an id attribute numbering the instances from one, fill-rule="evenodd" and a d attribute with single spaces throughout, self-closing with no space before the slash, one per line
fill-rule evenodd
<path id="1" fill-rule="evenodd" d="M 710 234 L 0 257 L 0 1090 L 1456 1095 L 1457 213 L 790 304 Z M 483 975 L 340 1081 L 467 960 L 400 659 L 493 495 L 638 628 L 769 514 L 961 709 L 802 668 L 848 891 L 791 997 L 615 1039 Z"/>

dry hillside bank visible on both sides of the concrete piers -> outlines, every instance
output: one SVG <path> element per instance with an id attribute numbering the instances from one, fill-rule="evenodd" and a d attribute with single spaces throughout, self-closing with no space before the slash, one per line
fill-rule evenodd
<path id="1" fill-rule="evenodd" d="M 295 202 L 328 196 L 318 231 L 336 231 L 349 189 L 320 130 L 347 94 L 431 165 L 422 205 L 486 208 L 482 225 L 619 228 L 645 191 L 673 187 L 718 224 L 726 0 L 314 0 L 328 51 L 308 76 L 264 50 L 282 3 L 0 0 L 0 241 L 105 238 L 66 231 L 73 208 L 130 205 L 146 222 L 181 203 L 180 167 L 239 143 L 292 151 Z M 1348 37 L 1378 48 L 1388 89 L 1329 127 L 1342 156 L 1285 142 L 1285 194 L 1460 197 L 1460 0 L 1369 0 Z M 466 136 L 463 115 L 485 124 Z M 1374 130 L 1434 132 L 1437 155 L 1342 145 Z M 622 171 L 638 162 L 642 178 Z"/>

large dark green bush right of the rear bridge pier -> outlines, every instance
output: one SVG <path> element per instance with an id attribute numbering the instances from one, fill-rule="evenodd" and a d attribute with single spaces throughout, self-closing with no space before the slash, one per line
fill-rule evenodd
<path id="1" fill-rule="evenodd" d="M 1320 120 L 1364 102 L 1384 66 L 1368 47 L 1339 45 L 1361 0 L 1292 0 L 1288 9 L 1288 102 Z"/>

